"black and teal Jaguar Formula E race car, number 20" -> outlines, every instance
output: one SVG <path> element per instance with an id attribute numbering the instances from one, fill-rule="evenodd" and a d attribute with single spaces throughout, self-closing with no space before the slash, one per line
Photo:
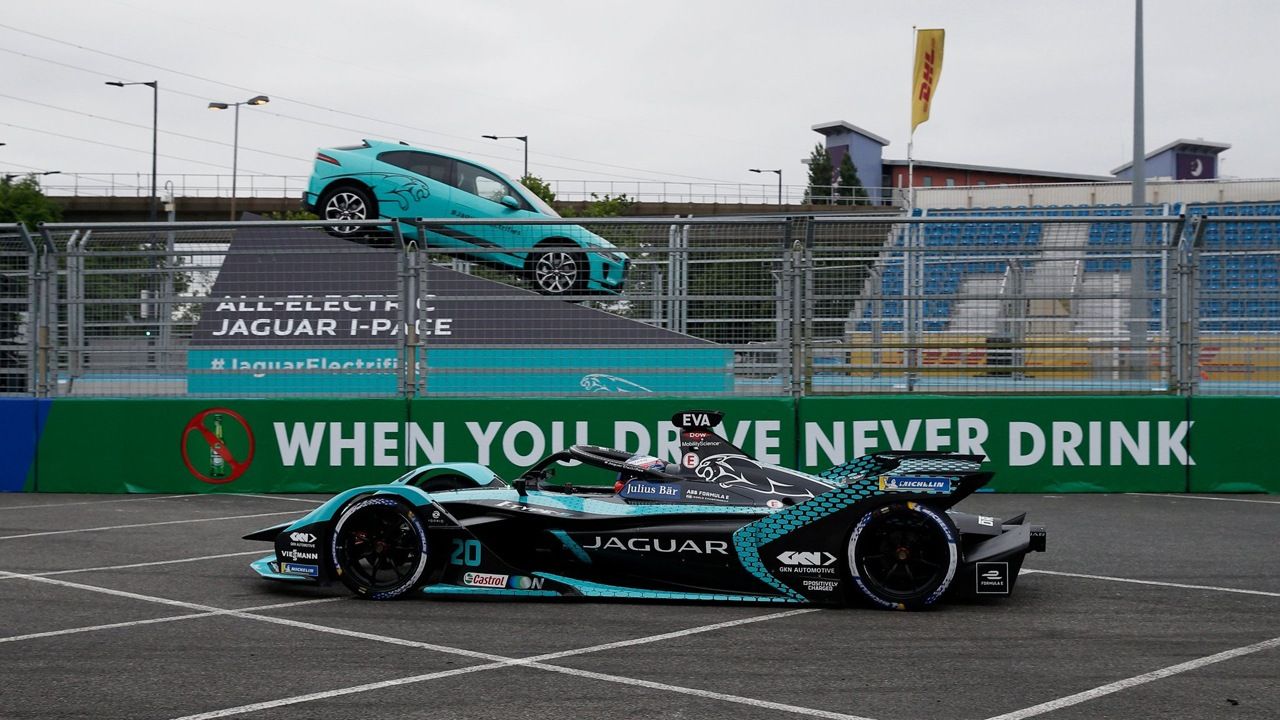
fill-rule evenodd
<path id="1" fill-rule="evenodd" d="M 1006 596 L 1046 534 L 1024 516 L 951 510 L 988 480 L 980 455 L 878 452 L 817 475 L 749 457 L 678 413 L 680 462 L 575 445 L 509 484 L 474 462 L 343 492 L 244 539 L 275 543 L 265 578 L 342 580 L 370 600 L 611 597 L 847 603 L 914 610 Z M 550 483 L 561 462 L 612 487 Z"/>

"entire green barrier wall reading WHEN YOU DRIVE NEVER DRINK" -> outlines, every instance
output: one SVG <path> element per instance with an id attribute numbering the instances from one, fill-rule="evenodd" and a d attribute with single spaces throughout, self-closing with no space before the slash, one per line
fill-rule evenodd
<path id="1" fill-rule="evenodd" d="M 512 478 L 577 442 L 675 460 L 668 420 L 690 409 L 724 411 L 731 441 L 810 471 L 877 450 L 947 450 L 987 455 L 1004 492 L 1280 492 L 1271 397 L 56 400 L 23 487 L 335 492 L 435 461 Z M 558 479 L 612 482 L 582 468 Z"/>

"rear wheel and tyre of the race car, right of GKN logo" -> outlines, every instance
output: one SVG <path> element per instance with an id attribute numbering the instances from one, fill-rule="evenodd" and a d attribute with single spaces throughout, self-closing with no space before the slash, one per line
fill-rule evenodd
<path id="1" fill-rule="evenodd" d="M 849 536 L 849 574 L 859 593 L 892 610 L 933 605 L 955 579 L 960 533 L 916 502 L 877 507 Z"/>

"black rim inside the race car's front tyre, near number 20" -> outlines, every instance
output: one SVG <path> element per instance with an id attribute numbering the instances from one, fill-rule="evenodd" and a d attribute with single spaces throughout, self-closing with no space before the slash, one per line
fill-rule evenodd
<path id="1" fill-rule="evenodd" d="M 390 507 L 357 510 L 346 523 L 338 552 L 343 571 L 372 592 L 390 591 L 408 580 L 422 557 L 408 518 Z"/>

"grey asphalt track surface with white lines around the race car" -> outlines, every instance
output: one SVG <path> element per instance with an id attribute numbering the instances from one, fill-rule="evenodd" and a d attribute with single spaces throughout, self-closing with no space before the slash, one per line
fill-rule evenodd
<path id="1" fill-rule="evenodd" d="M 1280 717 L 1280 498 L 983 495 L 1048 527 L 927 612 L 367 602 L 259 579 L 317 496 L 0 495 L 0 717 Z"/>

